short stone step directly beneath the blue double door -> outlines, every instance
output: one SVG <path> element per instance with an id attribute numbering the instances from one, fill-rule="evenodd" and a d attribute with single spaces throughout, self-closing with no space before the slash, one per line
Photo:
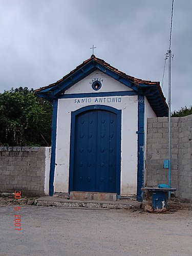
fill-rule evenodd
<path id="1" fill-rule="evenodd" d="M 70 200 L 117 201 L 117 194 L 87 191 L 71 191 Z"/>

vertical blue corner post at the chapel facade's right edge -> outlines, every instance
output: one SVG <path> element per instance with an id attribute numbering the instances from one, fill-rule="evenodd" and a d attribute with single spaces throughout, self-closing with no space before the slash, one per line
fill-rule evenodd
<path id="1" fill-rule="evenodd" d="M 143 201 L 144 183 L 144 96 L 138 95 L 138 170 L 137 170 L 137 201 Z"/>

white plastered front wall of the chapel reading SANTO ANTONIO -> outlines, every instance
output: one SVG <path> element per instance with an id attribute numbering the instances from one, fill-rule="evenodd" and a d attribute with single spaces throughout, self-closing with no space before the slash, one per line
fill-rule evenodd
<path id="1" fill-rule="evenodd" d="M 100 74 L 100 76 L 99 76 Z M 102 75 L 102 77 L 101 77 Z M 91 81 L 102 78 L 102 87 L 94 91 Z M 113 90 L 112 90 L 113 89 Z M 102 91 L 101 91 L 102 90 Z M 132 91 L 102 72 L 93 72 L 68 90 L 68 94 Z M 115 99 L 112 102 L 112 98 Z M 88 100 L 89 99 L 89 100 Z M 79 100 L 79 101 L 78 101 Z M 100 101 L 100 102 L 99 102 Z M 102 102 L 101 102 L 102 101 Z M 137 194 L 137 96 L 77 97 L 58 100 L 54 191 L 68 193 L 71 112 L 88 105 L 104 104 L 122 110 L 121 117 L 121 195 Z"/>

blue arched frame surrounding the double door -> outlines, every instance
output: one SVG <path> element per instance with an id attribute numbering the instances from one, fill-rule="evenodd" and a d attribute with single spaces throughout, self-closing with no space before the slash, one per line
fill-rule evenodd
<path id="1" fill-rule="evenodd" d="M 70 142 L 70 166 L 69 166 L 69 193 L 73 191 L 73 170 L 74 170 L 74 146 L 75 146 L 75 118 L 76 115 L 89 110 L 106 110 L 117 114 L 117 170 L 116 170 L 116 189 L 120 195 L 121 178 L 121 110 L 106 105 L 84 106 L 71 112 L 71 142 Z"/>

